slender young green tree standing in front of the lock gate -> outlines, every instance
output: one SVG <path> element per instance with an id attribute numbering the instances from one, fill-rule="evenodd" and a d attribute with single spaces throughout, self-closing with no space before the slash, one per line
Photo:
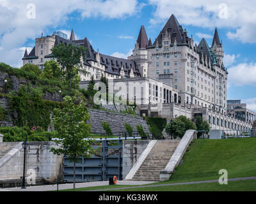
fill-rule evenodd
<path id="1" fill-rule="evenodd" d="M 58 148 L 52 148 L 54 154 L 65 154 L 71 161 L 74 161 L 74 187 L 76 189 L 76 163 L 79 157 L 90 157 L 88 152 L 93 151 L 92 140 L 84 140 L 90 135 L 90 124 L 86 121 L 90 115 L 83 100 L 77 96 L 65 96 L 65 106 L 55 108 L 52 118 Z"/>

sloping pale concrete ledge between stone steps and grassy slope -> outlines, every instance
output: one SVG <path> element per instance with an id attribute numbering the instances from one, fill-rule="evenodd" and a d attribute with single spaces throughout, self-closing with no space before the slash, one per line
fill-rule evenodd
<path id="1" fill-rule="evenodd" d="M 186 150 L 188 149 L 189 144 L 196 139 L 196 131 L 195 130 L 188 130 L 186 131 L 185 135 L 183 136 L 182 140 L 178 147 L 175 149 L 170 161 L 164 168 L 164 170 L 159 171 L 159 180 L 165 181 L 169 180 L 172 173 L 175 171 L 175 167 L 180 163 L 183 155 L 185 154 Z"/>

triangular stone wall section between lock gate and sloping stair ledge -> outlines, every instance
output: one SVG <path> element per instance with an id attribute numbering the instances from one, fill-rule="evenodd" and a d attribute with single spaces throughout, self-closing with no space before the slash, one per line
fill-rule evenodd
<path id="1" fill-rule="evenodd" d="M 123 179 L 132 169 L 150 140 L 124 140 L 123 142 Z"/>

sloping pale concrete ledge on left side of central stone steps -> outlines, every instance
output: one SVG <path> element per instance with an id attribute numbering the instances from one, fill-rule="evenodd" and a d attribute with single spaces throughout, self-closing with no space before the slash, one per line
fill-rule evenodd
<path id="1" fill-rule="evenodd" d="M 134 177 L 134 174 L 136 171 L 139 170 L 141 164 L 148 156 L 149 152 L 152 150 L 154 145 L 156 144 L 157 140 L 152 140 L 150 143 L 148 143 L 147 148 L 142 152 L 139 159 L 136 161 L 136 163 L 132 166 L 132 169 L 129 171 L 129 173 L 126 175 L 125 180 L 131 180 Z"/>

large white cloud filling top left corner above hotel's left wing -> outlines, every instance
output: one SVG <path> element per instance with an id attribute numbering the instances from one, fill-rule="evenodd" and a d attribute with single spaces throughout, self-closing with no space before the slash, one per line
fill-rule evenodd
<path id="1" fill-rule="evenodd" d="M 35 18 L 27 17 L 29 3 L 35 3 Z M 21 64 L 24 53 L 20 48 L 26 41 L 47 33 L 48 27 L 65 25 L 74 11 L 81 18 L 125 18 L 136 15 L 141 5 L 137 0 L 0 0 L 0 62 Z"/>

